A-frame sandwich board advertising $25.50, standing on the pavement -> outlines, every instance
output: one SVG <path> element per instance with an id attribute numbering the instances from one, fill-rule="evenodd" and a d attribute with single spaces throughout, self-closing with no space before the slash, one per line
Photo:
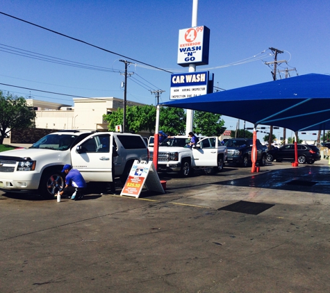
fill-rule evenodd
<path id="1" fill-rule="evenodd" d="M 138 199 L 144 186 L 147 187 L 147 190 L 165 193 L 154 163 L 135 160 L 120 195 L 133 196 Z"/>

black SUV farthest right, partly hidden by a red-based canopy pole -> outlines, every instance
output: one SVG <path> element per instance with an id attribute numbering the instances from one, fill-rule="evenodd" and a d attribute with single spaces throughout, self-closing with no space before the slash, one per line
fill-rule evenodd
<path id="1" fill-rule="evenodd" d="M 310 144 L 297 144 L 298 162 L 299 164 L 313 164 L 313 162 L 321 160 L 320 150 Z M 267 161 L 282 162 L 283 160 L 295 161 L 295 144 L 286 144 L 279 149 L 271 149 L 267 151 Z"/>

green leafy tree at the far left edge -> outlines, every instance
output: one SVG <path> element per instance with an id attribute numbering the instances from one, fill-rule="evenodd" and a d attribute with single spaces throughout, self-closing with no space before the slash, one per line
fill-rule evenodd
<path id="1" fill-rule="evenodd" d="M 9 92 L 5 95 L 0 90 L 0 109 L 0 144 L 3 144 L 7 128 L 13 130 L 35 126 L 35 112 L 28 108 L 23 97 L 13 96 Z"/>

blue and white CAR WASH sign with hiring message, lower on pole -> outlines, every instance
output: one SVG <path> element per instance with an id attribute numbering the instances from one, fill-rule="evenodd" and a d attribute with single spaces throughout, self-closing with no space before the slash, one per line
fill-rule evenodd
<path id="1" fill-rule="evenodd" d="M 171 100 L 185 99 L 208 93 L 208 72 L 171 75 Z"/>

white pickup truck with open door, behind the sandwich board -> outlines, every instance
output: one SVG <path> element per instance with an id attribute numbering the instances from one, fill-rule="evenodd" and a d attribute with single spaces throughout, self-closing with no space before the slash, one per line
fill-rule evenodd
<path id="1" fill-rule="evenodd" d="M 190 138 L 183 135 L 164 140 L 158 149 L 158 171 L 180 172 L 188 177 L 192 170 L 200 167 L 213 167 L 221 171 L 227 157 L 227 149 L 217 137 L 204 137 L 195 147 L 188 147 Z M 154 137 L 149 139 L 149 156 L 154 156 Z"/>

